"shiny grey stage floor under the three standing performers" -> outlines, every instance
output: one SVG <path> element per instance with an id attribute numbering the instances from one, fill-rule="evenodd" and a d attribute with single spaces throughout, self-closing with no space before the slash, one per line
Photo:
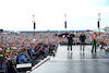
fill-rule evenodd
<path id="1" fill-rule="evenodd" d="M 80 52 L 80 46 L 73 46 L 73 53 L 66 46 L 59 46 L 56 57 L 34 70 L 32 73 L 109 73 L 109 52 L 97 49 L 92 53 L 92 46 Z"/>

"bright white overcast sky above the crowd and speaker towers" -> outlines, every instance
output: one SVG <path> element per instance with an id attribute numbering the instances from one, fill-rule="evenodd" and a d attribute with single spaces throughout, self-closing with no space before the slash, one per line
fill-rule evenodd
<path id="1" fill-rule="evenodd" d="M 0 28 L 33 31 L 33 14 L 36 31 L 64 31 L 64 14 L 68 28 L 97 29 L 109 26 L 109 0 L 0 0 Z"/>

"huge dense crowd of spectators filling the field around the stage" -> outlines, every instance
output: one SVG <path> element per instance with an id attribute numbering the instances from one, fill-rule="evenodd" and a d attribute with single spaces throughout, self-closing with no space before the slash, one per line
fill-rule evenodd
<path id="1" fill-rule="evenodd" d="M 31 62 L 32 60 L 44 54 L 44 58 L 55 53 L 59 42 L 65 41 L 65 37 L 56 36 L 62 33 L 20 33 L 20 34 L 2 34 L 0 35 L 0 69 L 5 60 L 7 64 L 11 64 L 13 69 L 17 63 Z M 72 33 L 74 34 L 74 33 Z M 73 42 L 80 42 L 81 33 L 75 33 Z M 85 32 L 86 42 L 92 44 L 93 32 Z M 109 33 L 97 33 L 97 46 L 109 48 Z M 28 56 L 27 56 L 28 54 Z M 12 68 L 12 66 L 7 66 Z M 9 69 L 9 72 L 12 69 Z"/>

